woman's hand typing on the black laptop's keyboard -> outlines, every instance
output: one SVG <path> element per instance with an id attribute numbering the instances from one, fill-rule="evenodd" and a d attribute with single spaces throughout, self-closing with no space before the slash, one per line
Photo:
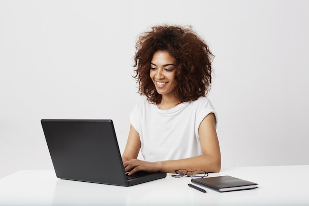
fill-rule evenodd
<path id="1" fill-rule="evenodd" d="M 123 163 L 125 172 L 129 171 L 128 175 L 137 171 L 157 172 L 160 171 L 159 165 L 159 162 L 147 162 L 138 159 L 131 159 Z"/>

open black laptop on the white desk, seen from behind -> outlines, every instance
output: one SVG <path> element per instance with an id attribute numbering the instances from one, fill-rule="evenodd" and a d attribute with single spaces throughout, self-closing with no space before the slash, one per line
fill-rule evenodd
<path id="1" fill-rule="evenodd" d="M 60 179 L 132 186 L 166 177 L 165 172 L 126 175 L 112 120 L 41 120 L 56 176 Z"/>

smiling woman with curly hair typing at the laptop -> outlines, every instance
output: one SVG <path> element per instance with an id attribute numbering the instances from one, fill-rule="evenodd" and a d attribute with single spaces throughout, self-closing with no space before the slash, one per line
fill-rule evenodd
<path id="1" fill-rule="evenodd" d="M 206 97 L 212 57 L 192 27 L 154 26 L 139 37 L 134 77 L 146 98 L 130 114 L 122 154 L 129 175 L 139 170 L 220 171 L 217 116 Z M 137 159 L 140 149 L 145 161 Z"/>

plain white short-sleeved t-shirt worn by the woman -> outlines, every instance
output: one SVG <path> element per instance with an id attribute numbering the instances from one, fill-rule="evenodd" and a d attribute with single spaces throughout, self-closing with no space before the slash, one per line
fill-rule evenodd
<path id="1" fill-rule="evenodd" d="M 206 97 L 161 110 L 146 99 L 130 114 L 132 126 L 140 135 L 145 161 L 178 160 L 201 155 L 198 127 L 210 113 L 217 115 Z"/>

